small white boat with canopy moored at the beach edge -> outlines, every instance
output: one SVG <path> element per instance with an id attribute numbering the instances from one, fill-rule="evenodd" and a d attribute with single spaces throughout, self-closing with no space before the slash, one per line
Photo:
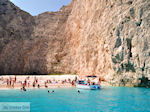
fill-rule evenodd
<path id="1" fill-rule="evenodd" d="M 77 81 L 76 83 L 76 88 L 78 89 L 90 89 L 90 90 L 97 90 L 97 89 L 100 89 L 100 85 L 98 84 L 88 84 L 86 81 Z"/>

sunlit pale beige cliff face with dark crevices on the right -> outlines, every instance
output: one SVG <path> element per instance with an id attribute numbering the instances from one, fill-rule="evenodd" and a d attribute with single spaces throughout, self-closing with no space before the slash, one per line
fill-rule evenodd
<path id="1" fill-rule="evenodd" d="M 66 27 L 74 70 L 113 85 L 149 85 L 150 1 L 75 2 Z"/>

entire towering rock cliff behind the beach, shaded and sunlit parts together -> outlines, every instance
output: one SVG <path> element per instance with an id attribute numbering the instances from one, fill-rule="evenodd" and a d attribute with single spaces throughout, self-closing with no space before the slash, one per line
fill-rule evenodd
<path id="1" fill-rule="evenodd" d="M 150 86 L 150 1 L 73 0 L 32 17 L 0 1 L 1 74 L 95 74 Z"/>

